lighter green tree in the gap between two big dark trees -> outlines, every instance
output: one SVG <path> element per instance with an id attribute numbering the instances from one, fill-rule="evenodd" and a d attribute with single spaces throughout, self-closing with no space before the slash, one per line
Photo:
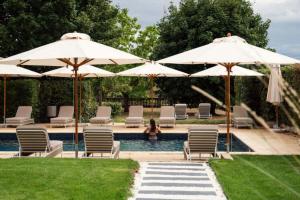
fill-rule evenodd
<path id="1" fill-rule="evenodd" d="M 121 39 L 121 44 L 128 44 L 125 49 L 142 58 L 151 59 L 152 52 L 158 41 L 158 29 L 156 26 L 148 26 L 144 30 L 139 30 L 140 26 L 137 26 L 137 20 L 135 18 L 129 18 L 127 12 L 120 13 L 123 26 L 127 27 L 125 30 L 127 35 Z M 127 17 L 122 15 L 126 14 Z M 127 20 L 124 20 L 127 19 Z M 131 27 L 131 28 L 130 28 Z M 124 46 L 124 45 L 123 45 Z M 136 65 L 122 65 L 122 66 L 107 66 L 106 69 L 120 72 Z M 116 77 L 103 80 L 103 90 L 108 96 L 116 97 L 147 97 L 149 91 L 149 80 L 147 78 L 140 77 Z"/>

